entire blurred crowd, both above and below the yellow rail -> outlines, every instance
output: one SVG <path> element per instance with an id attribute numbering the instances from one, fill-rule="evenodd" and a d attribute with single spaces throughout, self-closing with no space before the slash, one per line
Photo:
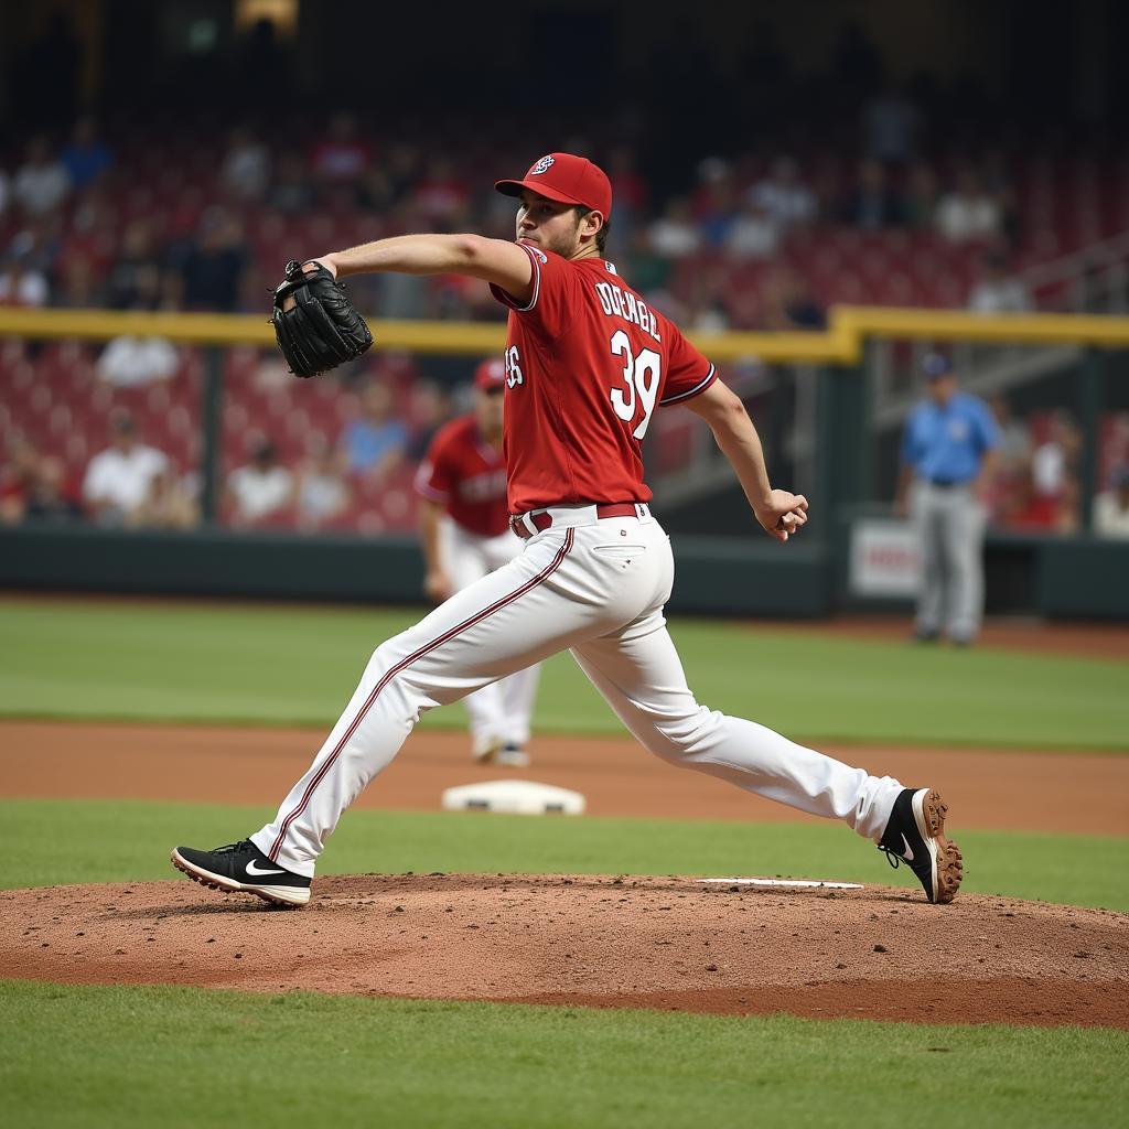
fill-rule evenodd
<path id="1" fill-rule="evenodd" d="M 677 67 L 690 73 L 692 58 L 683 45 Z M 1022 147 L 1009 148 L 999 131 L 994 140 L 990 129 L 975 143 L 954 138 L 924 87 L 887 84 L 866 44 L 849 37 L 828 79 L 850 107 L 849 128 L 838 122 L 825 137 L 785 135 L 763 120 L 762 97 L 791 89 L 784 65 L 770 37 L 759 38 L 747 73 L 762 88 L 751 81 L 738 107 L 758 140 L 707 131 L 702 147 L 715 152 L 679 172 L 645 142 L 624 140 L 641 137 L 629 111 L 615 119 L 623 128 L 614 138 L 560 137 L 561 148 L 590 152 L 609 172 L 609 255 L 650 303 L 691 330 L 819 330 L 830 292 L 814 272 L 823 248 L 839 248 L 830 265 L 823 262 L 823 279 L 833 283 L 858 265 L 860 248 L 881 248 L 889 236 L 885 259 L 874 260 L 877 277 L 908 248 L 927 247 L 934 259 L 920 264 L 924 275 L 935 261 L 955 261 L 944 259 L 949 253 L 972 264 L 951 304 L 983 313 L 1034 307 L 1019 268 L 1061 250 L 1061 217 L 1051 196 L 1032 203 L 1019 191 L 1013 158 Z M 685 88 L 672 82 L 654 91 L 656 106 L 675 91 L 682 98 Z M 975 120 L 974 102 L 959 120 Z M 948 124 L 955 120 L 951 114 Z M 513 202 L 492 182 L 537 156 L 525 147 L 527 134 L 506 123 L 462 137 L 452 125 L 449 145 L 425 145 L 410 131 L 376 132 L 344 111 L 288 123 L 285 133 L 265 116 L 182 131 L 81 116 L 65 134 L 29 132 L 0 149 L 0 305 L 261 315 L 291 254 L 412 230 L 511 237 Z M 1076 210 L 1091 219 L 1095 211 Z M 1089 228 L 1079 230 L 1082 238 Z M 349 285 L 362 309 L 384 317 L 504 315 L 487 287 L 467 279 L 390 274 Z M 184 350 L 158 336 L 122 336 L 99 349 L 94 368 L 115 396 L 175 385 Z M 356 516 L 390 483 L 410 482 L 427 438 L 458 408 L 457 379 L 419 384 L 408 393 L 362 371 L 348 390 L 348 419 L 312 430 L 298 453 L 280 422 L 252 421 L 257 426 L 247 428 L 221 478 L 224 519 L 326 528 Z M 1076 530 L 1077 428 L 1065 413 L 1015 420 L 1003 402 L 997 411 L 1007 448 L 995 524 Z M 107 418 L 110 436 L 97 437 L 104 449 L 82 473 L 18 426 L 0 436 L 0 518 L 194 525 L 201 482 L 190 460 L 147 439 L 135 413 Z M 1129 445 L 1105 470 L 1099 532 L 1124 535 L 1126 467 Z"/>

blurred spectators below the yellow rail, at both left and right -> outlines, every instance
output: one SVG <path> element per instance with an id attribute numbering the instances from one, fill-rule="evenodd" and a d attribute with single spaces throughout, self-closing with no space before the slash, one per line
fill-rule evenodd
<path id="1" fill-rule="evenodd" d="M 278 368 L 266 357 L 260 366 L 263 374 L 277 375 Z M 404 378 L 408 373 L 399 380 L 366 368 L 355 374 L 351 386 L 340 390 L 350 409 L 339 431 L 312 431 L 303 454 L 285 457 L 269 429 L 248 429 L 242 460 L 230 460 L 220 479 L 221 522 L 304 532 L 357 528 L 366 506 L 399 497 L 388 524 L 410 528 L 410 520 L 397 526 L 395 518 L 414 513 L 414 474 L 436 431 L 466 410 L 469 386 L 447 387 L 418 374 Z M 1005 395 L 995 396 L 991 409 L 1001 443 L 986 499 L 990 525 L 1017 533 L 1079 532 L 1083 452 L 1070 413 L 1017 417 Z M 1110 423 L 1093 528 L 1101 537 L 1129 539 L 1129 414 Z M 0 462 L 2 524 L 192 528 L 200 520 L 200 495 L 199 473 L 185 472 L 146 441 L 125 409 L 111 413 L 108 441 L 80 474 L 69 475 L 62 458 L 18 432 L 9 436 Z"/>

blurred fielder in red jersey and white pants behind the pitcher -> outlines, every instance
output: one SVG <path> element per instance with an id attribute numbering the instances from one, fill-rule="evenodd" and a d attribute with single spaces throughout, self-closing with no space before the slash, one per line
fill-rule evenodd
<path id="1" fill-rule="evenodd" d="M 483 360 L 474 370 L 474 411 L 443 427 L 415 478 L 423 587 L 443 603 L 454 593 L 507 564 L 522 551 L 506 509 L 502 414 L 506 366 Z M 475 760 L 510 768 L 530 763 L 537 666 L 499 679 L 464 699 Z"/>

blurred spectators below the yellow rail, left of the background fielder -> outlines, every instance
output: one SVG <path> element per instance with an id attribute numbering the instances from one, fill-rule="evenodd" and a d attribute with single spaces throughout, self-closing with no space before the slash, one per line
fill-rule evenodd
<path id="1" fill-rule="evenodd" d="M 259 357 L 251 375 L 268 395 L 277 394 L 280 380 L 294 382 L 271 352 Z M 467 410 L 470 384 L 448 386 L 404 365 L 396 377 L 362 365 L 340 383 L 324 379 L 332 418 L 341 419 L 335 432 L 312 427 L 297 444 L 283 444 L 270 422 L 257 419 L 228 445 L 217 497 L 222 524 L 303 532 L 411 527 L 413 476 L 439 428 Z M 228 411 L 247 415 L 238 403 Z M 203 481 L 191 460 L 147 436 L 123 404 L 108 412 L 107 423 L 108 435 L 80 469 L 10 428 L 0 444 L 0 524 L 196 526 Z"/>

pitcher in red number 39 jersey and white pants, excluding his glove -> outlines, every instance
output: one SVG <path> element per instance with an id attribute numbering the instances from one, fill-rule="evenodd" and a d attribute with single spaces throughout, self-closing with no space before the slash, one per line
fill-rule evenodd
<path id="1" fill-rule="evenodd" d="M 584 158 L 550 154 L 524 180 L 496 186 L 520 199 L 516 243 L 400 236 L 308 266 L 339 277 L 469 274 L 509 306 L 505 452 L 525 551 L 377 647 L 274 820 L 224 848 L 177 847 L 173 864 L 205 885 L 304 904 L 326 838 L 423 710 L 569 648 L 656 755 L 842 820 L 892 865 L 908 863 L 929 901 L 952 901 L 961 856 L 944 838 L 946 808 L 935 790 L 903 788 L 694 700 L 663 614 L 674 581 L 669 539 L 642 480 L 651 414 L 686 403 L 701 415 L 758 523 L 777 540 L 804 525 L 807 500 L 772 489 L 741 400 L 603 257 L 606 175 Z"/>

